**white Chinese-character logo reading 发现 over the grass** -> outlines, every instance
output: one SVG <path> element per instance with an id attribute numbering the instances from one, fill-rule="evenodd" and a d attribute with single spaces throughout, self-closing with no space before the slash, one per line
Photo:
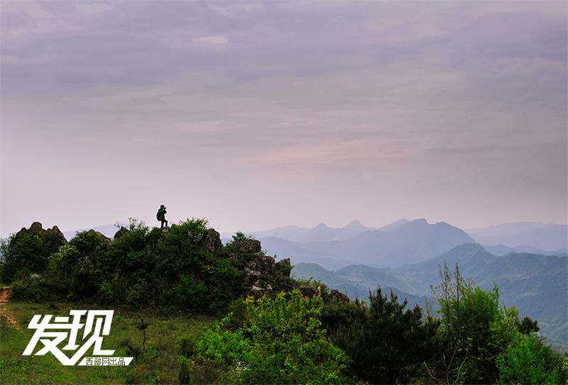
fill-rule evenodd
<path id="1" fill-rule="evenodd" d="M 130 364 L 133 357 L 109 357 L 114 355 L 114 350 L 102 350 L 102 336 L 109 335 L 111 331 L 113 313 L 112 310 L 72 310 L 69 311 L 69 316 L 72 316 L 71 322 L 69 322 L 70 317 L 55 317 L 53 323 L 50 322 L 52 315 L 45 315 L 42 319 L 41 314 L 36 314 L 28 325 L 28 329 L 35 329 L 35 333 L 26 350 L 23 351 L 23 355 L 31 355 L 35 350 L 35 345 L 41 342 L 43 347 L 35 353 L 36 356 L 50 352 L 63 365 L 73 366 L 93 347 L 93 355 L 101 357 L 83 357 L 79 362 L 80 366 L 126 366 Z M 81 323 L 84 315 L 87 317 L 85 322 Z M 75 343 L 77 332 L 83 327 L 83 336 L 80 341 L 82 345 L 77 345 Z M 67 337 L 67 345 L 62 347 L 62 350 L 76 351 L 72 357 L 67 357 L 58 347 L 67 340 Z"/>

